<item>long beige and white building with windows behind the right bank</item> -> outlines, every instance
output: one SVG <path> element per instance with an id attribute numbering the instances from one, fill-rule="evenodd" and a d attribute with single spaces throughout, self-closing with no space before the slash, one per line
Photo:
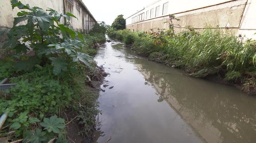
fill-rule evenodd
<path id="1" fill-rule="evenodd" d="M 152 28 L 168 28 L 164 23 L 169 15 L 180 21 L 175 32 L 186 30 L 186 26 L 196 29 L 231 29 L 234 34 L 242 34 L 256 39 L 256 0 L 158 0 L 126 18 L 126 28 L 149 31 Z"/>

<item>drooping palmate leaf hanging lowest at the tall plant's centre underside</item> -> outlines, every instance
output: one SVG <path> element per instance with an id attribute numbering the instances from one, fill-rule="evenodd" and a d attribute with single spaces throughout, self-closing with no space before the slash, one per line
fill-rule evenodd
<path id="1" fill-rule="evenodd" d="M 61 70 L 67 71 L 67 66 L 68 63 L 66 63 L 66 60 L 62 57 L 51 57 L 49 58 L 52 61 L 52 66 L 53 66 L 53 74 L 58 75 L 60 74 Z"/>

